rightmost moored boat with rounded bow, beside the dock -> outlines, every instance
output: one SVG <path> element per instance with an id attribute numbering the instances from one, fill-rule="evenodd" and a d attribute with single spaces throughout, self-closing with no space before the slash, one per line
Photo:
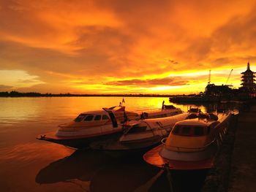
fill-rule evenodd
<path id="1" fill-rule="evenodd" d="M 199 114 L 197 118 L 178 121 L 162 144 L 145 153 L 143 159 L 168 169 L 209 169 L 232 115 L 232 112 Z"/>

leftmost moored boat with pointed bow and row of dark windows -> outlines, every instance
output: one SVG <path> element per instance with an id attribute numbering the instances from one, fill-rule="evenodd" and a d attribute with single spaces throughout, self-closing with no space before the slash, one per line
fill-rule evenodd
<path id="1" fill-rule="evenodd" d="M 82 112 L 72 122 L 59 125 L 58 131 L 40 135 L 37 139 L 75 149 L 86 148 L 93 141 L 121 135 L 123 123 L 128 119 L 138 118 L 138 113 L 125 111 L 125 107 L 121 105 Z"/>

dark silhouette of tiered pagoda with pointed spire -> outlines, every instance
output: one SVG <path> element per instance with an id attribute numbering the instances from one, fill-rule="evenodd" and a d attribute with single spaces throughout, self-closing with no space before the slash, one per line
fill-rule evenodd
<path id="1" fill-rule="evenodd" d="M 249 68 L 248 62 L 246 71 L 241 73 L 241 90 L 246 93 L 256 93 L 255 73 L 256 72 L 252 72 L 252 70 Z"/>

